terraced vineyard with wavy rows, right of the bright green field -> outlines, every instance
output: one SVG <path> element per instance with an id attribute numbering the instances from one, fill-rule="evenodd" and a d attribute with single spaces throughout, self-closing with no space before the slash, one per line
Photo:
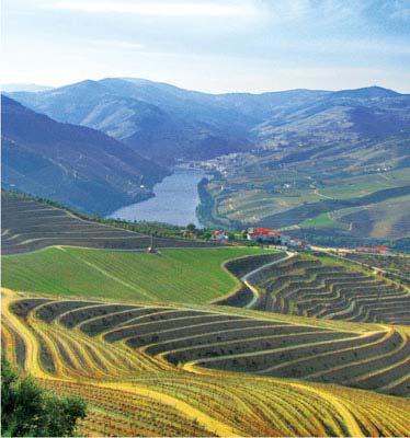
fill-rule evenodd
<path id="1" fill-rule="evenodd" d="M 320 319 L 410 324 L 410 292 L 397 283 L 338 263 L 297 255 L 248 278 L 259 309 Z"/>

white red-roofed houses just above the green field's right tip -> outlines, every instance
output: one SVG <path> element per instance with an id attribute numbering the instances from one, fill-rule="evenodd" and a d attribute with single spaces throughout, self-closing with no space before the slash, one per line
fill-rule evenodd
<path id="1" fill-rule="evenodd" d="M 270 230 L 267 228 L 262 227 L 252 227 L 248 228 L 248 230 L 243 230 L 241 232 L 241 237 L 252 242 L 257 242 L 264 245 L 272 246 L 281 246 L 281 249 L 298 249 L 298 250 L 310 250 L 310 245 L 300 240 L 291 238 L 288 235 L 283 234 L 276 230 Z M 224 241 L 227 240 L 228 237 L 224 232 L 224 230 L 214 231 L 213 240 Z"/>

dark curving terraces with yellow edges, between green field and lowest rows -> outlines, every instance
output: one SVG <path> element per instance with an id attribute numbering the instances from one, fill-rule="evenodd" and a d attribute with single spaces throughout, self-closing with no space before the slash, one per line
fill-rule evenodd
<path id="1" fill-rule="evenodd" d="M 133 356 L 117 362 L 112 355 L 126 347 L 136 353 L 138 367 L 147 369 L 194 366 L 410 395 L 409 337 L 392 326 L 343 331 L 232 314 L 228 308 L 213 312 L 72 300 L 23 299 L 11 310 L 30 323 L 45 324 L 36 326 L 35 336 L 43 345 L 41 364 L 49 372 L 133 372 Z M 101 348 L 104 339 L 113 351 Z"/>

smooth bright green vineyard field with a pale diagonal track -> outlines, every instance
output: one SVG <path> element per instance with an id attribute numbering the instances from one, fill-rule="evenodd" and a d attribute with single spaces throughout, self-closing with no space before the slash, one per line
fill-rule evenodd
<path id="1" fill-rule="evenodd" d="M 124 300 L 205 303 L 237 287 L 221 264 L 254 247 L 144 252 L 50 247 L 2 257 L 2 286 L 13 290 Z"/>

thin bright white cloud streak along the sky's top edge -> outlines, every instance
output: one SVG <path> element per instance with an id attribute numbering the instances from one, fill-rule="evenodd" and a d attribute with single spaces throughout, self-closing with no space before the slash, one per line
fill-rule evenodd
<path id="1" fill-rule="evenodd" d="M 45 3 L 45 8 L 91 13 L 129 13 L 153 16 L 249 16 L 255 12 L 244 1 L 114 1 L 114 0 L 60 0 Z"/>

